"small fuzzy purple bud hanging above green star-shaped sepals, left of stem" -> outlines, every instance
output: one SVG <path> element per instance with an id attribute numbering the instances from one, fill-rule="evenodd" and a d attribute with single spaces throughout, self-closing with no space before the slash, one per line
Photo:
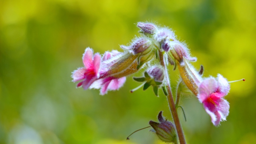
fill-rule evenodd
<path id="1" fill-rule="evenodd" d="M 155 82 L 162 82 L 164 80 L 164 68 L 159 65 L 155 65 L 147 70 L 149 76 L 155 80 Z"/>

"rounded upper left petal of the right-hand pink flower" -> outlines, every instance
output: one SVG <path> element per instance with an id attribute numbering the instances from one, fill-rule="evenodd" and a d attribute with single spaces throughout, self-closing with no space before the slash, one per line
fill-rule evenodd
<path id="1" fill-rule="evenodd" d="M 217 82 L 213 77 L 203 80 L 199 86 L 199 94 L 197 96 L 199 101 L 203 102 L 211 93 L 216 91 L 216 88 Z"/>

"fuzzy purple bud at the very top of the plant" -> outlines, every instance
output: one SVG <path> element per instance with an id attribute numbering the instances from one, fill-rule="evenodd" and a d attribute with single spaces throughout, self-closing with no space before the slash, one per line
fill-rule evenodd
<path id="1" fill-rule="evenodd" d="M 138 22 L 137 26 L 139 28 L 141 28 L 140 32 L 145 35 L 152 35 L 152 34 L 156 33 L 156 31 L 157 31 L 156 25 L 154 25 L 152 23 Z"/>

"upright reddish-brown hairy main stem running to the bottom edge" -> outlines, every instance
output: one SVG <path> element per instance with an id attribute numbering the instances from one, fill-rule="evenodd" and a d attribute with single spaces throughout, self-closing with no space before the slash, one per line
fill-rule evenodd
<path id="1" fill-rule="evenodd" d="M 164 60 L 164 55 L 162 54 L 162 52 L 160 50 L 159 50 L 159 59 L 160 59 L 161 65 L 165 68 L 165 74 L 166 74 L 165 79 L 166 79 L 166 82 L 167 82 L 167 94 L 168 94 L 167 99 L 168 99 L 171 114 L 173 116 L 173 120 L 174 120 L 174 123 L 175 123 L 175 126 L 176 126 L 176 130 L 177 130 L 177 133 L 178 133 L 180 144 L 186 144 L 185 137 L 184 137 L 183 130 L 182 130 L 182 126 L 180 125 L 179 116 L 178 116 L 178 113 L 176 111 L 176 107 L 175 107 L 175 104 L 174 104 L 173 95 L 171 94 L 171 84 L 170 84 L 170 80 L 169 80 L 167 64 L 166 64 L 166 61 Z"/>

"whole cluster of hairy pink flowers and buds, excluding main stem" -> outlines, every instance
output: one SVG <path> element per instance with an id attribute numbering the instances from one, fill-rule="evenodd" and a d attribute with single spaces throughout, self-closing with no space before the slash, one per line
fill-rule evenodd
<path id="1" fill-rule="evenodd" d="M 177 99 L 180 93 L 191 92 L 203 104 L 215 126 L 219 125 L 220 121 L 226 120 L 229 103 L 223 97 L 229 92 L 229 82 L 220 74 L 217 78 L 202 77 L 203 67 L 199 72 L 195 70 L 191 62 L 195 62 L 196 58 L 190 55 L 186 44 L 177 40 L 170 29 L 148 22 L 138 22 L 137 26 L 140 28 L 141 36 L 134 39 L 129 46 L 121 45 L 124 52 L 113 50 L 100 55 L 94 54 L 91 48 L 85 49 L 82 58 L 84 67 L 73 71 L 71 76 L 73 82 L 80 81 L 77 87 L 100 89 L 100 94 L 104 95 L 108 90 L 121 88 L 126 76 L 139 71 L 147 63 L 145 66 L 149 68 L 144 72 L 144 76 L 134 80 L 144 82 L 143 90 L 152 85 L 155 95 L 158 95 L 158 88 L 162 86 L 167 95 L 165 90 L 168 82 L 167 66 L 161 63 L 162 58 L 174 65 L 174 70 L 176 67 L 179 69 L 181 81 L 178 85 Z M 178 102 L 176 107 L 177 105 Z M 150 125 L 158 136 L 161 132 L 164 133 L 159 136 L 161 140 L 173 141 L 172 138 L 176 136 L 174 126 L 164 121 L 161 114 L 159 113 L 158 118 L 161 123 L 150 121 Z"/>

